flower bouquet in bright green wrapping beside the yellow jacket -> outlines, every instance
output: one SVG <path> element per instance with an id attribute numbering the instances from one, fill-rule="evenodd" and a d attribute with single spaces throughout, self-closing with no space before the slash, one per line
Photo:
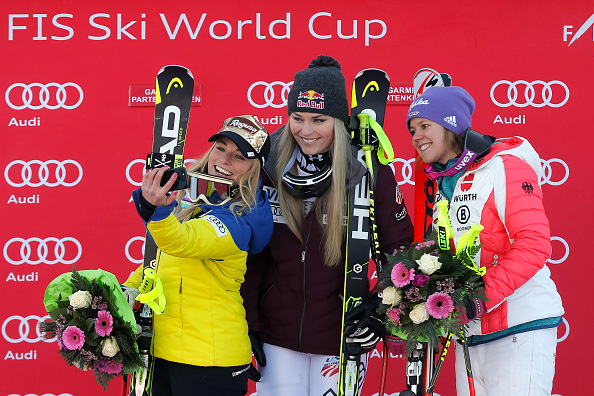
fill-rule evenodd
<path id="1" fill-rule="evenodd" d="M 52 319 L 40 325 L 44 337 L 57 339 L 69 365 L 93 369 L 104 390 L 114 376 L 144 366 L 134 313 L 113 274 L 73 268 L 50 282 L 43 303 Z"/>

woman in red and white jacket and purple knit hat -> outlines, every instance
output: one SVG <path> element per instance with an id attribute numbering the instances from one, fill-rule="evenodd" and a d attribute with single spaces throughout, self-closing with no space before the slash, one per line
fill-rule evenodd
<path id="1" fill-rule="evenodd" d="M 449 201 L 454 241 L 472 224 L 485 227 L 477 260 L 486 268 L 489 301 L 477 300 L 480 318 L 468 324 L 476 394 L 550 395 L 564 310 L 546 266 L 551 244 L 540 160 L 521 137 L 495 140 L 471 129 L 473 111 L 464 89 L 433 87 L 411 104 L 407 127 L 438 182 L 436 201 Z M 469 394 L 462 353 L 456 388 Z"/>

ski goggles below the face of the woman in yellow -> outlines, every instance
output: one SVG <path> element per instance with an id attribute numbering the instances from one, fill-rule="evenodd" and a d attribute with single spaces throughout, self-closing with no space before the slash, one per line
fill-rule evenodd
<path id="1" fill-rule="evenodd" d="M 223 205 L 239 194 L 239 186 L 233 180 L 202 172 L 188 172 L 188 188 L 185 201 Z"/>

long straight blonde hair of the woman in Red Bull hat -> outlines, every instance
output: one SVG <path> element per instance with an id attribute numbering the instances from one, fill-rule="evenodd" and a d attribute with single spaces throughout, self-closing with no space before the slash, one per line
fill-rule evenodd
<path id="1" fill-rule="evenodd" d="M 297 142 L 291 133 L 290 121 L 283 129 L 277 147 L 278 161 L 275 173 L 281 213 L 291 232 L 303 243 L 302 226 L 305 219 L 303 201 L 293 197 L 282 184 L 285 167 L 297 147 Z M 351 159 L 349 135 L 344 122 L 338 118 L 334 118 L 334 141 L 330 146 L 330 155 L 332 184 L 321 197 L 317 198 L 315 211 L 323 230 L 320 248 L 323 248 L 324 252 L 324 265 L 334 267 L 342 259 L 342 245 L 346 235 L 343 219 L 346 215 L 347 201 L 346 176 Z M 324 224 L 324 215 L 327 215 L 326 224 Z"/>

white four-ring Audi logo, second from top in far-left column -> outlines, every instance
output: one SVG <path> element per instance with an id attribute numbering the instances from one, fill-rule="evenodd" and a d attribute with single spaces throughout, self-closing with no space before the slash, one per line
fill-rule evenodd
<path id="1" fill-rule="evenodd" d="M 76 168 L 76 179 L 74 179 L 74 181 L 66 180 L 67 165 L 73 165 Z M 50 168 L 53 168 L 54 166 L 55 168 L 53 172 L 50 172 Z M 16 171 L 13 172 L 11 176 L 10 170 L 12 167 L 14 167 L 15 169 L 20 168 L 20 174 L 18 171 Z M 33 172 L 34 168 L 37 168 L 37 177 L 33 176 L 35 173 Z M 72 174 L 72 171 L 70 172 Z M 52 173 L 54 177 L 51 177 Z M 82 176 L 82 166 L 80 166 L 80 164 L 74 160 L 31 160 L 28 162 L 22 160 L 14 160 L 11 163 L 9 163 L 4 169 L 4 179 L 6 179 L 6 182 L 10 184 L 12 187 L 72 187 L 77 185 L 81 181 Z"/>

